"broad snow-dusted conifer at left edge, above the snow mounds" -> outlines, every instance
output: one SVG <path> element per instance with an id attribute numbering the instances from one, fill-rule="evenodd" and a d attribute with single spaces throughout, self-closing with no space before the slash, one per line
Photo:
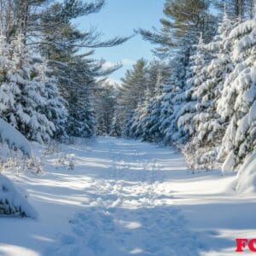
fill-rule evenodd
<path id="1" fill-rule="evenodd" d="M 10 44 L 2 36 L 0 47 L 2 118 L 28 139 L 49 142 L 63 129 L 61 122 L 66 117 L 55 80 L 47 77 L 41 60 L 32 59 L 21 34 Z"/>

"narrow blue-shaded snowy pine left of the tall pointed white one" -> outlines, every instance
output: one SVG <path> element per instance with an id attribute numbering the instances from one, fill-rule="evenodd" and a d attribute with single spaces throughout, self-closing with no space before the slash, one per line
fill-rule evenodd
<path id="1" fill-rule="evenodd" d="M 187 141 L 188 136 L 177 126 L 177 119 L 183 115 L 184 106 L 189 101 L 187 91 L 189 86 L 186 80 L 191 77 L 190 65 L 191 58 L 195 49 L 193 42 L 195 41 L 196 31 L 188 32 L 182 40 L 182 45 L 175 54 L 171 62 L 171 79 L 168 95 L 165 97 L 164 107 L 160 116 L 160 127 L 164 134 L 165 143 L 180 143 Z M 190 38 L 190 40 L 189 40 Z M 198 40 L 198 39 L 197 39 Z M 166 111 L 167 110 L 167 111 Z"/>

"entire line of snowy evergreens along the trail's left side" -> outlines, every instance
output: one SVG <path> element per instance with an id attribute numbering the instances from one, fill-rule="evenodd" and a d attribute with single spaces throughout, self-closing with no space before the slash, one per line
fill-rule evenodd
<path id="1" fill-rule="evenodd" d="M 105 1 L 0 1 L 0 117 L 40 143 L 96 134 L 98 84 L 119 68 L 92 58 L 102 40 L 73 20 L 94 14 Z"/>

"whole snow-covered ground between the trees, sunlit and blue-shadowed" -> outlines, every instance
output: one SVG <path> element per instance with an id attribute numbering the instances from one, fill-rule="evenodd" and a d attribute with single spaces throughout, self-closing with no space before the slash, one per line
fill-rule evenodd
<path id="1" fill-rule="evenodd" d="M 0 255 L 236 255 L 237 237 L 256 236 L 256 196 L 192 174 L 174 148 L 100 137 L 61 151 L 74 168 L 53 153 L 41 176 L 5 173 L 39 217 L 2 216 Z"/>

